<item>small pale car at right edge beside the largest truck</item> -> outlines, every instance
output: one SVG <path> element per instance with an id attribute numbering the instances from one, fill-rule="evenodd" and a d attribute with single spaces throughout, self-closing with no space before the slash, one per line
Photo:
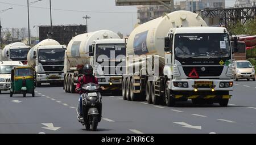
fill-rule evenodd
<path id="1" fill-rule="evenodd" d="M 232 63 L 232 75 L 234 80 L 253 79 L 255 81 L 254 66 L 249 61 L 234 61 Z"/>

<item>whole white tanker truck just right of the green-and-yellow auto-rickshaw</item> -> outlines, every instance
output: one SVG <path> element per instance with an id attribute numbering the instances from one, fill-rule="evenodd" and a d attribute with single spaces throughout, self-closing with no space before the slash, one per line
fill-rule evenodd
<path id="1" fill-rule="evenodd" d="M 35 69 L 37 87 L 41 83 L 63 84 L 65 50 L 66 46 L 52 39 L 43 40 L 30 49 L 27 60 Z"/>

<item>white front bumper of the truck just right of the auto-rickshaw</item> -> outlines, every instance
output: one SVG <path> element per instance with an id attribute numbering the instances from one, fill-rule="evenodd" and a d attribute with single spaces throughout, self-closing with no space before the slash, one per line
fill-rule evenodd
<path id="1" fill-rule="evenodd" d="M 36 74 L 36 81 L 40 83 L 63 82 L 64 73 Z"/>

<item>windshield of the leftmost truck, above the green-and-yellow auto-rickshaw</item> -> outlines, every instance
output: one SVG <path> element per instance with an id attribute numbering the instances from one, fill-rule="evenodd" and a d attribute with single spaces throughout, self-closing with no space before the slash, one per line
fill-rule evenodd
<path id="1" fill-rule="evenodd" d="M 10 58 L 15 60 L 26 60 L 30 49 L 10 49 Z"/>

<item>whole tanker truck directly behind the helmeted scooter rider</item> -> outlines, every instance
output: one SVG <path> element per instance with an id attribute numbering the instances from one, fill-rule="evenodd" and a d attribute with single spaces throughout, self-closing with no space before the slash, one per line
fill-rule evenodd
<path id="1" fill-rule="evenodd" d="M 109 30 L 84 33 L 73 37 L 65 52 L 65 92 L 75 93 L 82 67 L 93 66 L 98 83 L 105 92 L 121 93 L 122 74 L 125 74 L 125 40 Z"/>

